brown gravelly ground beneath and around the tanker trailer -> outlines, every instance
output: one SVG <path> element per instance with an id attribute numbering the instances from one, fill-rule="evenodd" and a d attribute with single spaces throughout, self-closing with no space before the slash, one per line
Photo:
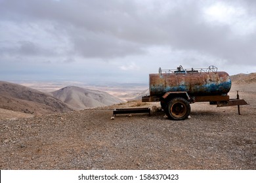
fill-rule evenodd
<path id="1" fill-rule="evenodd" d="M 140 101 L 41 116 L 2 112 L 0 169 L 256 169 L 256 82 L 237 77 L 229 95 L 240 90 L 250 104 L 242 115 L 194 103 L 184 121 L 163 111 L 110 119 L 114 108 L 160 106 Z"/>

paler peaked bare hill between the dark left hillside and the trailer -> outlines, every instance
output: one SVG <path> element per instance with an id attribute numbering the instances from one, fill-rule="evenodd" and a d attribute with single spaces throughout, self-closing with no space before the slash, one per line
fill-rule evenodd
<path id="1" fill-rule="evenodd" d="M 77 86 L 67 86 L 51 93 L 53 93 L 53 97 L 66 103 L 74 110 L 104 107 L 123 102 L 109 93 L 79 88 Z"/>

